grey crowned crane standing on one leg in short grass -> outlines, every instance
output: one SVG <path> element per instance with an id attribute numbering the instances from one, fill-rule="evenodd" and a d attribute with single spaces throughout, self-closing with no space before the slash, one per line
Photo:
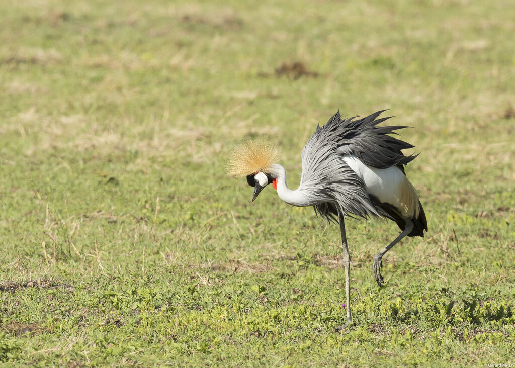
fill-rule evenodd
<path id="1" fill-rule="evenodd" d="M 384 111 L 384 110 L 383 110 Z M 401 150 L 413 148 L 393 137 L 404 126 L 377 126 L 390 117 L 378 118 L 378 111 L 365 118 L 341 119 L 334 114 L 302 150 L 302 177 L 297 189 L 286 186 L 286 172 L 275 163 L 276 148 L 264 141 L 250 141 L 236 148 L 230 157 L 228 174 L 247 177 L 254 187 L 252 201 L 268 184 L 279 198 L 293 206 L 313 206 L 328 221 L 338 221 L 343 247 L 347 323 L 350 312 L 350 256 L 345 234 L 345 217 L 382 217 L 395 221 L 401 234 L 373 257 L 372 271 L 379 286 L 382 258 L 406 236 L 424 236 L 427 220 L 417 192 L 409 182 L 404 165 L 417 155 L 405 156 Z"/>

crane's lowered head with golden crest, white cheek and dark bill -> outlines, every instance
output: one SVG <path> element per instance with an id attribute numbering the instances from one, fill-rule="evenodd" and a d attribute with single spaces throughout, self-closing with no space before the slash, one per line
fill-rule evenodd
<path id="1" fill-rule="evenodd" d="M 278 149 L 261 139 L 248 141 L 236 147 L 229 157 L 227 173 L 231 177 L 247 177 L 247 183 L 254 187 L 252 201 L 268 184 L 277 189 L 274 162 L 280 159 Z"/>

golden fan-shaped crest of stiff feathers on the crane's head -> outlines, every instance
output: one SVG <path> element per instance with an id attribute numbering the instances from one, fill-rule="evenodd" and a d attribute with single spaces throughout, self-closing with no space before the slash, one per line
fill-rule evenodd
<path id="1" fill-rule="evenodd" d="M 276 146 L 263 139 L 247 141 L 236 147 L 229 156 L 227 174 L 243 178 L 254 172 L 267 172 L 270 165 L 281 158 Z"/>

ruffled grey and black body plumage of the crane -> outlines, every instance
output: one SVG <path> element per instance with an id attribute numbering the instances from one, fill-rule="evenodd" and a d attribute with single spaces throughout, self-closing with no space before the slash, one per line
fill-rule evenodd
<path id="1" fill-rule="evenodd" d="M 377 119 L 384 112 L 377 111 L 367 117 L 351 117 L 342 120 L 340 112 L 334 114 L 315 133 L 302 150 L 302 179 L 300 188 L 313 197 L 315 212 L 329 221 L 336 221 L 338 209 L 345 216 L 368 218 L 381 216 L 396 221 L 401 230 L 402 216 L 396 214 L 388 204 L 381 203 L 366 190 L 366 185 L 355 172 L 341 160 L 344 155 L 354 155 L 365 165 L 377 169 L 399 167 L 404 173 L 404 165 L 418 155 L 405 156 L 402 149 L 413 145 L 389 134 L 405 126 L 377 127 L 377 124 L 391 116 Z M 420 208 L 423 208 L 420 205 Z M 420 219 L 416 235 L 423 236 L 427 231 L 425 214 Z"/>

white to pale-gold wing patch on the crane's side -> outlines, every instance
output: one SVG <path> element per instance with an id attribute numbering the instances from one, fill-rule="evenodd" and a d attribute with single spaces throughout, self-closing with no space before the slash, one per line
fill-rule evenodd
<path id="1" fill-rule="evenodd" d="M 402 216 L 418 217 L 420 209 L 417 192 L 398 167 L 376 169 L 365 165 L 353 155 L 344 155 L 343 160 L 363 180 L 369 194 L 383 203 L 396 206 Z"/>

